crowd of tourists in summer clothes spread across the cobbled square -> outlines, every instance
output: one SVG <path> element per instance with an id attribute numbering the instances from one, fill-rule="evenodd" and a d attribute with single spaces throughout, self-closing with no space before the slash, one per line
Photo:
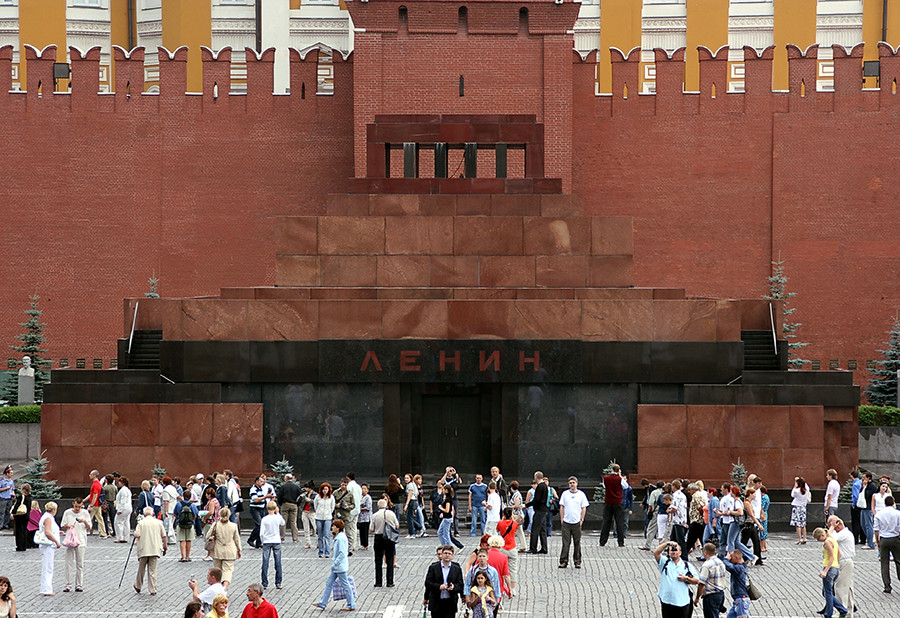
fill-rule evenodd
<path id="1" fill-rule="evenodd" d="M 59 521 L 58 505 L 47 502 L 41 513 L 38 503 L 30 499 L 29 486 L 16 489 L 11 473 L 7 466 L 3 474 L 7 482 L 0 485 L 0 490 L 7 492 L 0 493 L 4 500 L 0 519 L 12 521 L 17 551 L 40 548 L 42 595 L 55 594 L 54 555 L 62 548 L 66 553 L 63 592 L 84 590 L 84 557 L 94 530 L 100 538 L 134 543 L 137 573 L 133 588 L 140 594 L 146 577 L 151 596 L 157 593 L 157 567 L 169 545 L 178 545 L 180 562 L 190 562 L 192 543 L 201 538 L 203 560 L 212 562 L 208 586 L 201 591 L 196 581 L 189 582 L 192 600 L 185 616 L 228 615 L 228 588 L 235 562 L 243 555 L 238 513 L 245 506 L 238 479 L 229 470 L 198 473 L 184 485 L 178 477 L 153 477 L 141 482 L 137 496 L 127 478 L 116 473 L 101 476 L 92 470 L 87 495 L 76 497 Z M 851 472 L 851 522 L 845 526 L 836 515 L 841 493 L 837 477 L 835 470 L 826 473 L 823 526 L 812 532 L 823 550 L 819 577 L 825 607 L 819 613 L 829 618 L 835 610 L 842 618 L 854 611 L 856 546 L 879 550 L 885 593 L 892 592 L 891 560 L 900 579 L 900 511 L 895 508 L 889 479 L 876 481 L 871 473 Z M 248 603 L 242 616 L 277 617 L 275 607 L 263 598 L 269 586 L 269 565 L 274 562 L 274 584 L 282 588 L 282 544 L 288 532 L 292 542 L 299 543 L 301 528 L 305 547 L 312 549 L 315 539 L 317 556 L 331 561 L 315 607 L 325 609 L 334 599 L 345 601 L 341 608 L 345 611 L 356 609 L 357 590 L 349 558 L 354 552 L 368 550 L 370 539 L 375 587 L 393 587 L 401 516 L 405 516 L 407 538 L 426 536 L 426 521 L 430 520 L 440 543 L 437 560 L 426 570 L 423 605 L 433 616 L 453 616 L 461 601 L 473 616 L 493 617 L 504 601 L 518 593 L 520 554 L 548 553 L 547 539 L 557 514 L 562 536 L 559 568 L 568 568 L 570 563 L 581 568 L 582 528 L 589 500 L 579 489 L 577 477 L 569 477 L 567 485 L 557 491 L 538 471 L 523 495 L 517 481 L 507 483 L 494 467 L 487 482 L 477 474 L 474 482 L 465 486 L 456 469 L 448 466 L 430 496 L 425 495 L 421 475 L 407 474 L 401 483 L 392 474 L 373 498 L 368 484 L 357 483 L 352 472 L 340 480 L 338 489 L 328 482 L 316 485 L 312 481 L 301 487 L 293 475 L 286 474 L 276 490 L 265 474 L 259 474 L 249 489 L 246 510 L 253 522 L 247 544 L 262 550 L 260 583 L 247 589 Z M 608 543 L 610 534 L 624 546 L 628 522 L 636 509 L 635 490 L 618 465 L 603 476 L 601 490 L 600 546 Z M 644 479 L 638 491 L 644 520 L 639 548 L 652 552 L 659 568 L 662 615 L 689 616 L 694 607 L 702 607 L 704 616 L 716 617 L 726 611 L 728 588 L 732 599 L 728 618 L 748 616 L 753 598 L 750 570 L 764 566 L 767 553 L 770 500 L 763 480 L 749 474 L 744 482 L 707 489 L 701 480 L 673 479 L 654 485 Z M 797 544 L 802 545 L 807 543 L 811 503 L 806 480 L 797 477 L 790 495 L 790 524 L 796 530 Z M 137 508 L 133 509 L 135 500 Z M 462 564 L 454 561 L 457 550 L 463 548 L 459 538 L 461 500 L 471 518 L 469 535 L 478 537 Z M 132 529 L 133 519 L 136 525 Z M 701 564 L 692 568 L 694 552 Z M 730 586 L 726 582 L 729 575 Z M 12 584 L 0 577 L 0 616 L 15 616 L 15 612 Z"/>

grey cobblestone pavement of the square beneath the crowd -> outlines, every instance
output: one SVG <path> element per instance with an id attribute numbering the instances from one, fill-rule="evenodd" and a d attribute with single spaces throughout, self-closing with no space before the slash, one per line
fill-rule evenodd
<path id="1" fill-rule="evenodd" d="M 246 531 L 244 532 L 246 543 Z M 464 536 L 460 561 L 472 550 L 475 538 Z M 794 544 L 787 535 L 770 535 L 769 553 L 765 567 L 751 570 L 763 598 L 752 604 L 752 616 L 769 618 L 815 618 L 815 611 L 824 603 L 818 570 L 822 561 L 821 546 L 810 541 L 805 546 Z M 274 565 L 270 565 L 269 590 L 265 597 L 275 604 L 279 615 L 317 616 L 337 612 L 343 601 L 330 603 L 326 612 L 312 608 L 322 594 L 330 561 L 316 558 L 315 549 L 304 549 L 305 543 L 288 541 L 284 545 L 284 588 L 274 587 Z M 373 588 L 374 567 L 372 549 L 357 551 L 350 558 L 350 572 L 359 591 L 358 613 L 400 618 L 422 615 L 422 596 L 425 570 L 434 559 L 438 545 L 433 531 L 424 539 L 401 539 L 398 547 L 399 569 L 396 587 Z M 550 554 L 520 555 L 520 594 L 504 603 L 505 615 L 520 616 L 615 616 L 648 618 L 659 615 L 656 598 L 657 570 L 648 552 L 637 549 L 637 537 L 629 537 L 626 547 L 615 547 L 610 539 L 606 547 L 599 547 L 597 534 L 583 537 L 583 568 L 557 568 L 560 537 L 550 539 Z M 182 616 L 190 600 L 187 580 L 195 575 L 205 581 L 209 562 L 201 542 L 193 546 L 193 561 L 179 563 L 178 547 L 169 546 L 159 566 L 159 594 L 151 597 L 146 588 L 135 594 L 132 584 L 137 560 L 128 563 L 125 581 L 118 588 L 129 545 L 116 544 L 92 536 L 88 540 L 85 558 L 85 591 L 64 593 L 65 550 L 56 552 L 54 590 L 56 596 L 39 595 L 40 552 L 37 549 L 16 552 L 11 535 L 0 536 L 0 574 L 8 576 L 15 589 L 20 616 Z M 239 618 L 246 603 L 244 591 L 260 581 L 262 552 L 247 549 L 235 565 L 231 587 L 232 604 L 229 614 Z M 886 618 L 900 616 L 900 583 L 894 582 L 894 594 L 882 592 L 877 552 L 861 550 L 856 557 L 856 594 L 858 616 Z M 692 562 L 699 564 L 696 561 Z M 893 576 L 893 569 L 892 569 Z M 145 583 L 146 586 L 146 583 Z M 695 614 L 699 615 L 699 614 Z M 460 612 L 462 616 L 462 612 Z M 835 614 L 837 616 L 837 614 Z"/>

